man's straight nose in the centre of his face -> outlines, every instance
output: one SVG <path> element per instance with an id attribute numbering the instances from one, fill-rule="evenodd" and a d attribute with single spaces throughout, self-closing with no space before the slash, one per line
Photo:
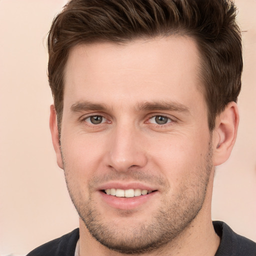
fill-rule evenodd
<path id="1" fill-rule="evenodd" d="M 115 127 L 108 141 L 106 164 L 118 172 L 131 167 L 141 168 L 147 163 L 144 143 L 135 127 Z"/>

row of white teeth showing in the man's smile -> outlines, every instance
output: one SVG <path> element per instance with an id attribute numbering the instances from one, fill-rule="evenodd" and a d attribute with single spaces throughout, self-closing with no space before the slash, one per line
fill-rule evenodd
<path id="1" fill-rule="evenodd" d="M 116 197 L 135 197 L 135 196 L 140 196 L 140 195 L 146 195 L 146 194 L 150 194 L 156 190 L 146 190 L 146 189 L 120 189 L 120 188 L 107 188 L 104 190 L 101 190 L 102 192 L 104 192 L 105 194 L 108 195 L 113 195 Z"/>

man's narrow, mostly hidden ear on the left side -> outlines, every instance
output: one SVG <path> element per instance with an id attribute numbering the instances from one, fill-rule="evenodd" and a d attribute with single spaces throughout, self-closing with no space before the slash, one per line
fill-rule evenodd
<path id="1" fill-rule="evenodd" d="M 51 133 L 51 139 L 52 144 L 56 153 L 57 157 L 57 164 L 58 166 L 63 169 L 63 162 L 60 152 L 60 145 L 59 145 L 59 136 L 58 136 L 58 125 L 57 125 L 57 115 L 54 105 L 50 105 L 50 133 Z"/>

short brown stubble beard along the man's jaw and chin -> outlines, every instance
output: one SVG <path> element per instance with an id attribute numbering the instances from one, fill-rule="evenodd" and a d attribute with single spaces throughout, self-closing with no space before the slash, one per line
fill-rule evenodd
<path id="1" fill-rule="evenodd" d="M 124 254 L 143 254 L 170 243 L 189 227 L 202 208 L 211 170 L 210 140 L 205 162 L 197 167 L 193 179 L 185 183 L 176 195 L 164 198 L 162 206 L 153 212 L 150 223 L 144 223 L 141 219 L 135 225 L 131 223 L 129 227 L 115 227 L 111 222 L 107 222 L 98 212 L 91 197 L 82 201 L 82 196 L 77 196 L 74 192 L 75 186 L 71 182 L 69 184 L 68 174 L 66 171 L 64 173 L 71 200 L 92 237 L 111 250 Z M 129 212 L 124 212 L 124 217 L 125 214 L 127 217 Z"/>

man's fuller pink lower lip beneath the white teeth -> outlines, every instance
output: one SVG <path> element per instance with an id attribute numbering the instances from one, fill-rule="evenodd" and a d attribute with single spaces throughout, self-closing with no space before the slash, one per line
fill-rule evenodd
<path id="1" fill-rule="evenodd" d="M 130 210 L 139 207 L 144 203 L 147 203 L 156 195 L 157 191 L 134 197 L 117 197 L 114 195 L 105 194 L 102 191 L 99 191 L 99 193 L 102 200 L 109 206 L 121 210 Z"/>

